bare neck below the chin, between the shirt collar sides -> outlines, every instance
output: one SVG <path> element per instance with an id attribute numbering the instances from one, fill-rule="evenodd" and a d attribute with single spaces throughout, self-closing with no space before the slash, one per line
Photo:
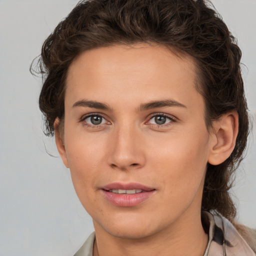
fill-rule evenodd
<path id="1" fill-rule="evenodd" d="M 208 235 L 203 230 L 200 214 L 194 214 L 193 221 L 191 217 L 182 216 L 165 229 L 139 239 L 113 236 L 94 223 L 93 256 L 202 256 Z"/>

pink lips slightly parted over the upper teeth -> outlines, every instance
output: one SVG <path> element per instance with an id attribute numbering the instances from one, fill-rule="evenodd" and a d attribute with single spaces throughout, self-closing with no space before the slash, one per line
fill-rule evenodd
<path id="1" fill-rule="evenodd" d="M 138 205 L 155 193 L 154 188 L 139 183 L 119 182 L 107 184 L 101 191 L 108 202 L 122 207 Z"/>

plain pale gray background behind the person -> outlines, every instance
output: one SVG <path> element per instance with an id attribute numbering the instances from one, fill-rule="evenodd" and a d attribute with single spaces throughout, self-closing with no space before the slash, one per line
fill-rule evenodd
<path id="1" fill-rule="evenodd" d="M 40 79 L 29 73 L 46 36 L 76 0 L 0 0 L 0 256 L 73 255 L 93 230 L 54 140 L 42 132 Z M 213 0 L 242 49 L 256 119 L 256 0 Z M 253 134 L 255 137 L 255 121 Z M 256 227 L 256 141 L 237 171 L 239 221 Z M 57 157 L 51 157 L 47 151 Z"/>

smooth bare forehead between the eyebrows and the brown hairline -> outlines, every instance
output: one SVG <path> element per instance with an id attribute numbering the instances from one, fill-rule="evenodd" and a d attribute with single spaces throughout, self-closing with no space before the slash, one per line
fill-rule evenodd
<path id="1" fill-rule="evenodd" d="M 196 78 L 191 56 L 161 45 L 99 47 L 82 52 L 69 66 L 65 104 L 83 97 L 106 101 L 106 95 L 128 104 L 135 96 L 184 101 L 198 96 Z"/>

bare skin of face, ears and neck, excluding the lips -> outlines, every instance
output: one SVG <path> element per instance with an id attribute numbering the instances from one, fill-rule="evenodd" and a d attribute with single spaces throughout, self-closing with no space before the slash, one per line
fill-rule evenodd
<path id="1" fill-rule="evenodd" d="M 64 130 L 59 133 L 56 119 L 55 138 L 93 219 L 94 255 L 203 255 L 206 165 L 219 164 L 231 153 L 238 117 L 223 115 L 209 132 L 195 82 L 193 59 L 159 45 L 99 47 L 69 66 Z M 141 107 L 166 100 L 176 103 Z M 101 123 L 91 123 L 90 114 L 101 115 Z M 165 122 L 157 124 L 155 116 Z M 155 190 L 138 205 L 120 207 L 101 190 L 116 181 Z"/>

